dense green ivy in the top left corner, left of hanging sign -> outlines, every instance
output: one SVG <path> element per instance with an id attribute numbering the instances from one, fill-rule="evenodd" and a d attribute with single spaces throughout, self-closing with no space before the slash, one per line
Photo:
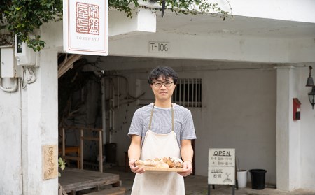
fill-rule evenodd
<path id="1" fill-rule="evenodd" d="M 41 36 L 34 35 L 34 30 L 45 22 L 60 20 L 62 15 L 62 0 L 0 0 L 0 5 L 1 28 L 16 34 L 34 51 L 45 45 Z"/>

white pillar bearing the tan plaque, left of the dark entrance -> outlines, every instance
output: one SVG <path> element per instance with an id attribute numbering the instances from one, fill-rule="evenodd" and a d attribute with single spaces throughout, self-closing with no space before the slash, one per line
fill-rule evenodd
<path id="1" fill-rule="evenodd" d="M 43 180 L 43 145 L 58 145 L 57 51 L 44 49 L 36 81 L 22 89 L 23 194 L 58 194 L 58 178 Z M 56 168 L 57 168 L 57 161 Z"/>

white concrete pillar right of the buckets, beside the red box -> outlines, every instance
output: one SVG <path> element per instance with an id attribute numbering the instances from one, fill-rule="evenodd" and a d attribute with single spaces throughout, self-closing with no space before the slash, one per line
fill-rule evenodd
<path id="1" fill-rule="evenodd" d="M 299 98 L 299 77 L 294 67 L 276 70 L 276 186 L 292 191 L 300 181 L 300 120 L 293 121 L 293 98 Z"/>

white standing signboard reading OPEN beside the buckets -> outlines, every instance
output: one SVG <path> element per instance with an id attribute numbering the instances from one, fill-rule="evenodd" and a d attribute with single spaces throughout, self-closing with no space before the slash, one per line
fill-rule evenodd
<path id="1" fill-rule="evenodd" d="M 209 149 L 208 184 L 235 185 L 235 149 Z"/>

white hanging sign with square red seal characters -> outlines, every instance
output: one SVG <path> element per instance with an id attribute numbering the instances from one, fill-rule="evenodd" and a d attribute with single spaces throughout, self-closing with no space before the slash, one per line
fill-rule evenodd
<path id="1" fill-rule="evenodd" d="M 64 51 L 109 54 L 107 6 L 106 0 L 64 0 Z"/>

